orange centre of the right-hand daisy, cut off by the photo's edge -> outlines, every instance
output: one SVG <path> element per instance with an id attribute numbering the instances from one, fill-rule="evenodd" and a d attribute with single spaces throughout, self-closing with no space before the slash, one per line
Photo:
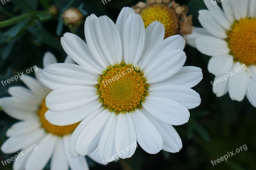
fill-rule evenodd
<path id="1" fill-rule="evenodd" d="M 246 65 L 256 64 L 256 18 L 244 18 L 235 21 L 227 31 L 228 47 L 234 61 Z"/>

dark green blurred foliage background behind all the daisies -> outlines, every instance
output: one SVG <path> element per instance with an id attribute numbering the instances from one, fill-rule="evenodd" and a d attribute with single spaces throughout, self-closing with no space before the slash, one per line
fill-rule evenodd
<path id="1" fill-rule="evenodd" d="M 63 33 L 73 32 L 84 39 L 84 23 L 77 30 L 63 25 L 62 14 L 69 7 L 82 11 L 84 19 L 94 13 L 97 16 L 107 15 L 116 21 L 124 6 L 132 6 L 138 2 L 111 0 L 104 5 L 101 0 L 10 0 L 4 5 L 0 3 L 0 81 L 7 80 L 17 75 L 17 72 L 26 71 L 34 65 L 42 67 L 42 58 L 46 51 L 51 51 L 59 62 L 64 61 L 66 53 L 60 45 Z M 176 2 L 187 5 L 188 15 L 193 15 L 194 26 L 200 26 L 197 16 L 198 10 L 206 9 L 203 0 Z M 188 123 L 175 127 L 182 139 L 181 151 L 161 151 L 151 155 L 139 146 L 132 158 L 121 159 L 108 166 L 98 165 L 87 158 L 91 170 L 256 169 L 256 108 L 252 107 L 246 98 L 242 102 L 232 101 L 228 94 L 217 98 L 210 83 L 214 76 L 207 70 L 210 57 L 189 45 L 185 52 L 185 65 L 202 68 L 204 78 L 194 87 L 201 96 L 201 105 L 190 110 Z M 34 73 L 28 75 L 34 76 Z M 0 97 L 8 96 L 8 87 L 14 85 L 23 84 L 20 80 L 5 86 L 0 84 Z M 7 139 L 6 130 L 17 120 L 6 115 L 1 108 L 0 114 L 2 145 Z M 215 166 L 212 165 L 211 160 L 220 159 L 227 152 L 235 152 L 243 145 L 247 146 L 246 151 L 241 151 Z M 0 151 L 0 161 L 13 155 Z M 47 165 L 45 169 L 49 167 Z M 12 163 L 7 166 L 0 165 L 0 169 L 12 169 Z"/>

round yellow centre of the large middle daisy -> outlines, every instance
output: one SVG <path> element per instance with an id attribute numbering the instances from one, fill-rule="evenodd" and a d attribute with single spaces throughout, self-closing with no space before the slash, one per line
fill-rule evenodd
<path id="1" fill-rule="evenodd" d="M 100 102 L 116 114 L 141 108 L 148 84 L 138 67 L 121 63 L 103 72 L 97 85 Z"/>

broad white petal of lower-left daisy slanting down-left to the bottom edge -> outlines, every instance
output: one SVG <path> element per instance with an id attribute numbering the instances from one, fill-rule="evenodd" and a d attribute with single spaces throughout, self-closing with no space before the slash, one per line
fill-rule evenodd
<path id="1" fill-rule="evenodd" d="M 50 160 L 57 143 L 57 137 L 48 133 L 44 139 L 37 144 L 37 150 L 31 152 L 26 163 L 26 169 L 40 170 L 43 169 Z"/>

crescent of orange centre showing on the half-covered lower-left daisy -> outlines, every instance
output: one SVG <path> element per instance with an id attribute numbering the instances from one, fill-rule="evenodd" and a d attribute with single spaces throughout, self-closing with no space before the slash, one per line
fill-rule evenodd
<path id="1" fill-rule="evenodd" d="M 57 136 L 68 135 L 72 133 L 80 123 L 78 122 L 78 123 L 74 123 L 67 126 L 53 125 L 50 122 L 48 122 L 44 117 L 44 114 L 47 112 L 47 110 L 48 108 L 45 105 L 45 100 L 43 100 L 43 102 L 41 103 L 40 109 L 37 113 L 38 113 L 40 122 L 42 124 L 42 128 L 44 128 L 46 132 L 52 133 L 53 135 L 57 135 Z"/>

